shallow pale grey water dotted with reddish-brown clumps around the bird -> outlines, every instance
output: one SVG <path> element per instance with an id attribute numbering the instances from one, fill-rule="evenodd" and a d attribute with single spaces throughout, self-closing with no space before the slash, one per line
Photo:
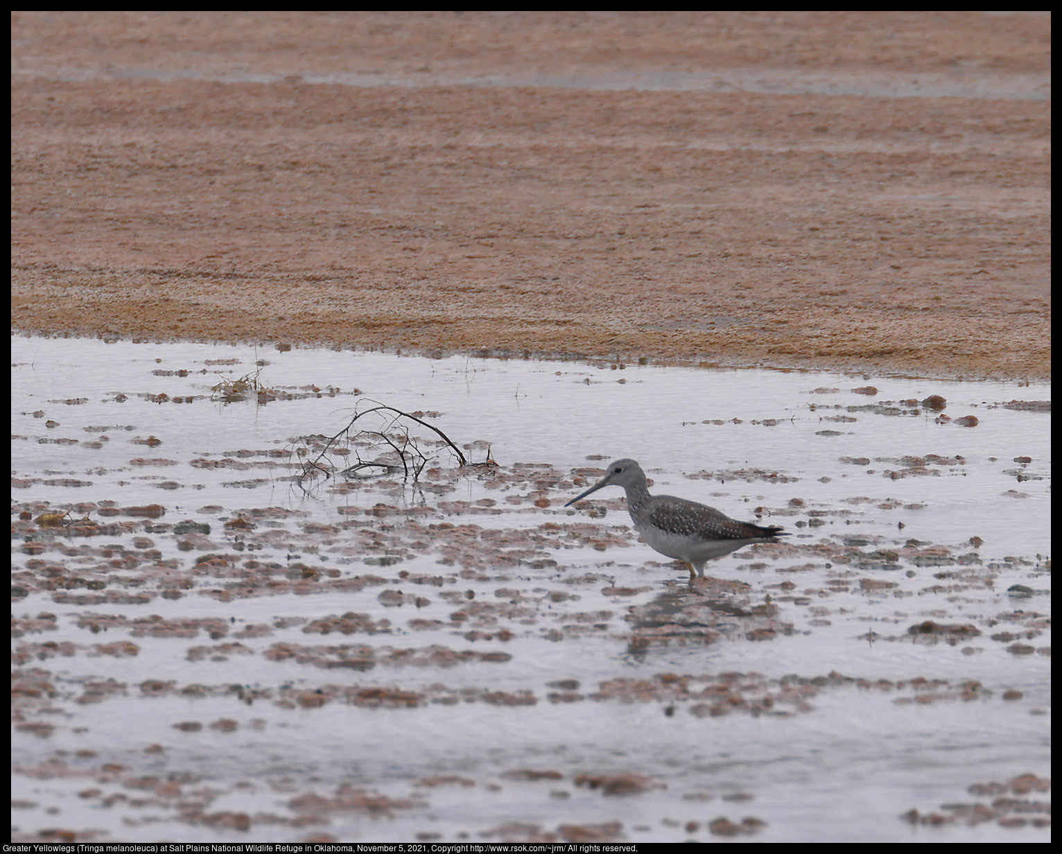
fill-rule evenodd
<path id="1" fill-rule="evenodd" d="M 13 348 L 14 838 L 1047 839 L 1049 387 Z M 369 399 L 496 465 L 296 483 Z M 790 536 L 690 586 L 624 456 Z"/>

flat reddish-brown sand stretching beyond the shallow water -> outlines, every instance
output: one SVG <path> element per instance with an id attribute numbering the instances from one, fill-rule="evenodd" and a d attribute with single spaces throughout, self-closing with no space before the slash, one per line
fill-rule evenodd
<path id="1" fill-rule="evenodd" d="M 1013 97 L 1043 95 L 1045 16 L 17 13 L 13 36 L 17 330 L 1050 373 L 1049 102 Z M 912 78 L 990 97 L 873 95 Z M 777 91 L 830 85 L 872 93 Z"/>

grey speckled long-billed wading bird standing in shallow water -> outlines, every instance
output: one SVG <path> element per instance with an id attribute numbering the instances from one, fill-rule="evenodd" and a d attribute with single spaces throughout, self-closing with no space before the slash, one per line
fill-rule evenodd
<path id="1" fill-rule="evenodd" d="M 777 543 L 782 532 L 776 525 L 760 528 L 738 522 L 714 507 L 686 498 L 650 495 L 641 466 L 634 460 L 626 459 L 609 463 L 604 477 L 565 507 L 603 486 L 623 488 L 627 510 L 638 533 L 654 551 L 685 561 L 689 565 L 690 579 L 703 578 L 704 564 L 713 558 L 721 558 L 753 543 Z M 695 569 L 697 576 L 693 575 Z"/>

